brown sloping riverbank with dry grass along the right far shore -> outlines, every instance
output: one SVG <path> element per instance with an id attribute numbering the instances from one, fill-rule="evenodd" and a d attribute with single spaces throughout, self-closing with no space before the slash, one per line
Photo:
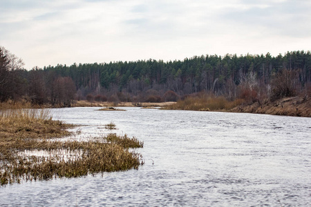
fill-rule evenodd
<path id="1" fill-rule="evenodd" d="M 164 110 L 199 110 L 218 112 L 248 112 L 267 115 L 311 117 L 310 97 L 286 97 L 276 101 L 227 101 L 224 97 L 189 97 L 165 106 Z"/>

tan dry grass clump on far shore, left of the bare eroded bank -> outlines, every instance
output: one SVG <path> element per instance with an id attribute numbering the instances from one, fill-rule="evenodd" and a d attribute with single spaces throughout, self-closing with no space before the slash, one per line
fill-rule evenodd
<path id="1" fill-rule="evenodd" d="M 185 100 L 179 100 L 176 103 L 166 106 L 162 109 L 167 110 L 230 110 L 243 103 L 243 99 L 228 101 L 225 97 L 187 97 Z"/>

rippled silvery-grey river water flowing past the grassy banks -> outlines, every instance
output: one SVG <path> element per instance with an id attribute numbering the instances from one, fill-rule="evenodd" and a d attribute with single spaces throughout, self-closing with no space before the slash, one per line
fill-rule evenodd
<path id="1" fill-rule="evenodd" d="M 0 188 L 1 206 L 311 206 L 311 119 L 124 108 L 52 109 L 79 139 L 117 134 L 144 148 L 138 170 Z"/>

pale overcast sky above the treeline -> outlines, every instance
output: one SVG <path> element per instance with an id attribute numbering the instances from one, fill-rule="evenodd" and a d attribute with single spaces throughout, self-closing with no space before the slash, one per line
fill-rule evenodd
<path id="1" fill-rule="evenodd" d="M 310 0 L 1 0 L 0 46 L 26 69 L 311 50 Z"/>

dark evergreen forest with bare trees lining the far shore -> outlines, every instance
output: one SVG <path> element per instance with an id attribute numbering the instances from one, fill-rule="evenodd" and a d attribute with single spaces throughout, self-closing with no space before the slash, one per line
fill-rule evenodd
<path id="1" fill-rule="evenodd" d="M 197 94 L 258 101 L 307 95 L 311 52 L 201 55 L 183 60 L 57 64 L 23 68 L 0 47 L 0 101 L 72 106 L 75 101 L 162 102 Z"/>

